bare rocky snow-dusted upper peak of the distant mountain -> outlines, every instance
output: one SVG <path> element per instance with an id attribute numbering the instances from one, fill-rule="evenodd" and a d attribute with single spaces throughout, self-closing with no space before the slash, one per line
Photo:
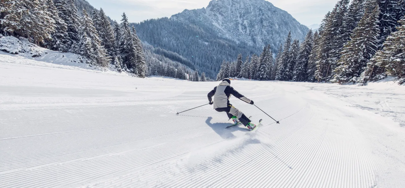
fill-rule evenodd
<path id="1" fill-rule="evenodd" d="M 286 11 L 265 0 L 212 0 L 207 8 L 185 10 L 171 19 L 198 21 L 216 30 L 219 36 L 238 43 L 277 49 L 289 31 L 302 40 L 308 31 Z"/>

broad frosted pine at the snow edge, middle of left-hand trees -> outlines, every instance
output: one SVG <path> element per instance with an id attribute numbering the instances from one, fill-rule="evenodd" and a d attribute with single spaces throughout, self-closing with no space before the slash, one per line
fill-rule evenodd
<path id="1" fill-rule="evenodd" d="M 109 63 L 107 51 L 102 47 L 93 21 L 84 9 L 79 30 L 79 54 L 86 57 L 88 60 L 87 63 L 90 65 L 107 67 Z"/>

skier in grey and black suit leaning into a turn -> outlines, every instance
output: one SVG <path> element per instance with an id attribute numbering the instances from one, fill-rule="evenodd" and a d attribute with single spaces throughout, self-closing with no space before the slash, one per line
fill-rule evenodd
<path id="1" fill-rule="evenodd" d="M 228 118 L 232 119 L 234 124 L 242 122 L 242 124 L 249 128 L 249 130 L 253 130 L 254 128 L 256 128 L 256 125 L 252 124 L 245 114 L 243 114 L 241 111 L 239 111 L 229 103 L 229 98 L 232 95 L 245 101 L 246 103 L 249 103 L 251 105 L 254 104 L 253 100 L 250 100 L 249 98 L 234 90 L 230 86 L 229 79 L 223 79 L 220 85 L 216 86 L 211 92 L 208 93 L 209 104 L 214 105 L 214 109 L 218 112 L 226 112 Z M 214 101 L 212 101 L 213 96 Z"/>

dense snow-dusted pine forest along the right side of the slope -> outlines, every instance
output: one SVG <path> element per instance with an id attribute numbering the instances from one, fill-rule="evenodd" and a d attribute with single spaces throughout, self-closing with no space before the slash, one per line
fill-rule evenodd
<path id="1" fill-rule="evenodd" d="M 217 79 L 359 83 L 396 77 L 405 82 L 405 1 L 339 0 L 303 43 L 289 34 L 275 60 L 264 47 L 241 64 L 224 61 Z M 241 73 L 241 74 L 239 74 Z"/>

